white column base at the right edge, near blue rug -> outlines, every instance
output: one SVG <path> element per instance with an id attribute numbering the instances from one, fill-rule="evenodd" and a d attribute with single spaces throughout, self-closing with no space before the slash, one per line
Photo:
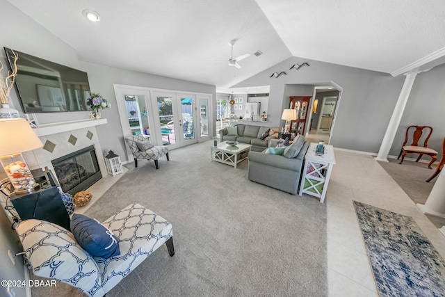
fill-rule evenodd
<path id="1" fill-rule="evenodd" d="M 444 170 L 439 173 L 437 181 L 432 187 L 425 204 L 417 203 L 417 207 L 423 211 L 423 214 L 432 214 L 445 218 L 445 173 Z"/>

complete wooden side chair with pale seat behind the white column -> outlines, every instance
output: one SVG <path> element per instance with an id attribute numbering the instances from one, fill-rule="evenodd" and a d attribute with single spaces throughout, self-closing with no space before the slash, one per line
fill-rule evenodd
<path id="1" fill-rule="evenodd" d="M 408 134 L 410 133 L 411 128 L 415 129 L 412 134 L 412 144 L 406 145 L 406 143 L 408 141 Z M 421 147 L 421 146 L 419 146 L 418 143 L 419 143 L 419 140 L 422 137 L 422 134 L 424 131 L 426 133 L 428 133 L 428 136 L 426 136 L 425 141 L 423 142 L 423 147 Z M 405 141 L 403 142 L 401 153 L 398 154 L 398 158 L 397 158 L 397 159 L 400 159 L 400 157 L 402 156 L 402 160 L 399 164 L 403 163 L 403 159 L 405 159 L 405 156 L 407 154 L 419 154 L 419 157 L 416 159 L 416 162 L 418 162 L 421 159 L 421 157 L 424 154 L 426 154 L 428 156 L 431 156 L 431 161 L 428 164 L 428 168 L 432 169 L 431 168 L 432 163 L 434 163 L 437 160 L 437 152 L 435 150 L 428 148 L 428 139 L 430 139 L 431 134 L 432 134 L 432 127 L 429 127 L 429 126 L 410 126 L 410 127 L 408 127 L 406 129 Z"/>

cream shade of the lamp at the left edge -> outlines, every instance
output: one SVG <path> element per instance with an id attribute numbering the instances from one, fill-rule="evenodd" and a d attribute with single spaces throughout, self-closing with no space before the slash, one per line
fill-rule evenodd
<path id="1" fill-rule="evenodd" d="M 42 147 L 33 128 L 24 118 L 0 120 L 0 156 Z"/>

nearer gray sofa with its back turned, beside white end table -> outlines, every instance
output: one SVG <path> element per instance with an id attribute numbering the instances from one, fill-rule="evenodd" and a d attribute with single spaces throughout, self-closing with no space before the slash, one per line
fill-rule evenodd
<path id="1" fill-rule="evenodd" d="M 248 156 L 248 178 L 252 182 L 296 194 L 309 144 L 309 141 L 304 141 L 303 138 L 298 153 L 294 152 L 293 154 L 286 154 L 286 156 L 266 154 L 265 152 L 250 152 Z M 292 145 L 298 144 L 294 141 Z"/>

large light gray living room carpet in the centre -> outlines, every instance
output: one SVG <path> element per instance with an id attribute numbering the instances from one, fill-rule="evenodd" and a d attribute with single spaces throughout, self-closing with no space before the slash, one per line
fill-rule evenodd
<path id="1" fill-rule="evenodd" d="M 213 141 L 138 161 L 86 215 L 105 220 L 138 202 L 170 220 L 165 246 L 107 296 L 326 296 L 326 205 L 248 180 L 210 161 Z M 60 284 L 33 296 L 80 296 Z"/>

